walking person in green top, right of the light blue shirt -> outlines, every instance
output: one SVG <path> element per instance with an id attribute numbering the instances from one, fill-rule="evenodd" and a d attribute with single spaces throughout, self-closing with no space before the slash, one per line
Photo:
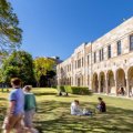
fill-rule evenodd
<path id="1" fill-rule="evenodd" d="M 29 129 L 29 132 L 34 133 L 32 119 L 37 111 L 35 96 L 31 93 L 31 85 L 23 88 L 24 92 L 24 126 Z"/>

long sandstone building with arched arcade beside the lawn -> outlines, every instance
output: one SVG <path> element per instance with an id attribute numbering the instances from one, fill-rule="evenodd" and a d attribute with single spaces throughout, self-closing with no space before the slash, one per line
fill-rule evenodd
<path id="1" fill-rule="evenodd" d="M 82 43 L 57 66 L 59 85 L 89 86 L 98 93 L 133 93 L 133 18 L 98 40 Z"/>

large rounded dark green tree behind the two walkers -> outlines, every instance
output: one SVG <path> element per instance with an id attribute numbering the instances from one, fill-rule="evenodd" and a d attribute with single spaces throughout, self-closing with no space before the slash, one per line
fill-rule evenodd
<path id="1" fill-rule="evenodd" d="M 9 83 L 11 78 L 20 78 L 23 84 L 34 83 L 33 59 L 25 51 L 14 51 L 3 61 L 3 81 Z"/>

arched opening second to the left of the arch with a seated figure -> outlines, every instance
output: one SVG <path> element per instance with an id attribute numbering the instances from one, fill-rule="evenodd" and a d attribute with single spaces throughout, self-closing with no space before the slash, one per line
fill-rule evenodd
<path id="1" fill-rule="evenodd" d="M 99 76 L 99 80 L 100 80 L 100 92 L 105 92 L 105 74 L 104 72 L 100 72 L 100 76 Z"/>

